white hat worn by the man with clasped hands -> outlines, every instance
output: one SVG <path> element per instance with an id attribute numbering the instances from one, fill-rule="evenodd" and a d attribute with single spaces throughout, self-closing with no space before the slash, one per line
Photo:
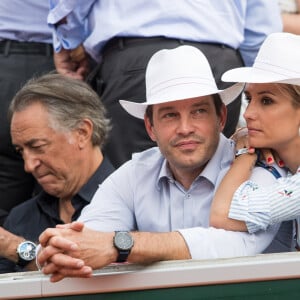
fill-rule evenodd
<path id="1" fill-rule="evenodd" d="M 146 69 L 146 102 L 120 100 L 134 117 L 144 119 L 148 105 L 219 94 L 225 104 L 231 103 L 243 90 L 237 83 L 219 90 L 204 54 L 192 46 L 179 46 L 156 52 Z"/>

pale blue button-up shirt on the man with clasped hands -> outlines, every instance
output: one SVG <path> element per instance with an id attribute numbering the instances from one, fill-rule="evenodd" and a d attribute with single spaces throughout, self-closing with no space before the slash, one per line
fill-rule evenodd
<path id="1" fill-rule="evenodd" d="M 211 201 L 233 156 L 233 142 L 221 135 L 215 155 L 186 190 L 174 180 L 158 148 L 134 154 L 102 183 L 79 220 L 99 231 L 179 231 L 194 259 L 260 253 L 278 225 L 256 234 L 209 228 Z M 253 180 L 270 184 L 275 178 L 257 168 Z"/>

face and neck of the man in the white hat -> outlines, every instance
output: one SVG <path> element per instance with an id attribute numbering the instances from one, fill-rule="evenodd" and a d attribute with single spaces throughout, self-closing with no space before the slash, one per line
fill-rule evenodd
<path id="1" fill-rule="evenodd" d="M 205 96 L 156 104 L 153 125 L 148 118 L 145 124 L 173 176 L 188 189 L 216 151 L 225 120 L 225 106 L 218 117 L 212 96 Z"/>

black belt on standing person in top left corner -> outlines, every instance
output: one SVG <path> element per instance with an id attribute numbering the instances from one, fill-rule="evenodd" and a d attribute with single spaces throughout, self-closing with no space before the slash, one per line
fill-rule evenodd
<path id="1" fill-rule="evenodd" d="M 37 54 L 52 56 L 53 47 L 47 43 L 18 42 L 13 40 L 0 41 L 0 54 L 8 56 L 10 54 Z"/>

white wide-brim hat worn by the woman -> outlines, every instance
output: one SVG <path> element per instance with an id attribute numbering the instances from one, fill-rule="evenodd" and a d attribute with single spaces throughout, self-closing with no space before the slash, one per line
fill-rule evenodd
<path id="1" fill-rule="evenodd" d="M 223 81 L 300 85 L 300 36 L 272 33 L 261 45 L 252 67 L 229 70 Z"/>

